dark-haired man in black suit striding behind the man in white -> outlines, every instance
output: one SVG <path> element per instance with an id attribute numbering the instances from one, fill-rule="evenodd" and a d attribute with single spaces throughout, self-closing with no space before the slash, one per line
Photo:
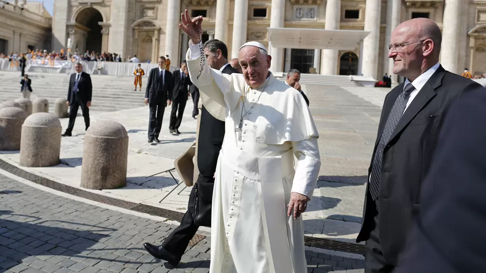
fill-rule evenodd
<path id="1" fill-rule="evenodd" d="M 208 40 L 204 43 L 203 48 L 206 60 L 211 68 L 219 69 L 225 74 L 237 73 L 228 63 L 228 49 L 222 41 L 216 39 Z M 217 157 L 224 138 L 224 121 L 213 117 L 204 106 L 201 109 L 200 119 L 199 135 L 196 136 L 198 137 L 197 164 L 199 169 L 196 182 L 199 183 L 199 187 L 202 186 L 205 189 L 209 189 L 204 190 L 204 192 L 210 192 L 210 196 L 203 197 L 204 199 L 211 200 L 212 186 L 214 185 L 213 176 L 216 171 Z M 199 228 L 192 218 L 195 197 L 195 187 L 192 187 L 187 211 L 182 217 L 180 225 L 167 236 L 162 245 L 153 245 L 148 242 L 143 244 L 152 256 L 166 260 L 174 266 L 179 263 L 189 241 Z"/>

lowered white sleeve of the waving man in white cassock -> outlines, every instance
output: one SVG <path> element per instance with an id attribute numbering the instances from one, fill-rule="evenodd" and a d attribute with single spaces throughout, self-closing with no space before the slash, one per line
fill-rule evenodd
<path id="1" fill-rule="evenodd" d="M 292 146 L 298 159 L 292 192 L 304 194 L 311 199 L 321 167 L 317 137 L 292 142 Z"/>

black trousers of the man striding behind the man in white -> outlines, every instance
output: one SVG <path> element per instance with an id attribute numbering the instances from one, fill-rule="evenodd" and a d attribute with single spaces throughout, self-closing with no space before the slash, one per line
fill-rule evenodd
<path id="1" fill-rule="evenodd" d="M 185 212 L 184 216 L 182 216 L 179 226 L 177 226 L 162 243 L 165 250 L 169 251 L 178 258 L 184 254 L 187 245 L 189 245 L 189 241 L 192 239 L 194 234 L 196 234 L 196 231 L 199 228 L 199 226 L 194 224 L 194 219 L 192 218 L 195 197 L 195 188 L 192 187 L 191 193 L 189 194 L 187 211 Z"/>

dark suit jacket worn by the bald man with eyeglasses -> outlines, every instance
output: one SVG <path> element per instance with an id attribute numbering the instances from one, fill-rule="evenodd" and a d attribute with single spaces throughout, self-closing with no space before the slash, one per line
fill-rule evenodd
<path id="1" fill-rule="evenodd" d="M 385 97 L 378 126 L 383 131 L 393 103 L 404 83 L 393 88 Z M 405 245 L 413 217 L 420 211 L 420 187 L 427 175 L 438 134 L 449 105 L 464 93 L 481 87 L 475 81 L 448 72 L 439 66 L 410 103 L 388 144 L 383 150 L 379 192 L 379 236 L 383 256 L 396 264 L 398 253 Z M 368 169 L 371 171 L 373 159 Z M 368 196 L 368 186 L 366 188 Z M 367 240 L 374 227 L 374 209 L 365 198 L 363 223 L 357 241 Z"/>

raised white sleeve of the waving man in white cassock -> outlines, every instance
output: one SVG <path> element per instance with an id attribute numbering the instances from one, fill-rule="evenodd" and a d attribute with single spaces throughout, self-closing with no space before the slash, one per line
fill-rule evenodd
<path id="1" fill-rule="evenodd" d="M 227 97 L 231 89 L 230 75 L 209 67 L 203 54 L 202 42 L 192 44 L 189 41 L 186 59 L 190 79 L 199 88 L 202 104 L 212 116 L 224 121 L 228 99 L 231 104 L 237 103 Z"/>

